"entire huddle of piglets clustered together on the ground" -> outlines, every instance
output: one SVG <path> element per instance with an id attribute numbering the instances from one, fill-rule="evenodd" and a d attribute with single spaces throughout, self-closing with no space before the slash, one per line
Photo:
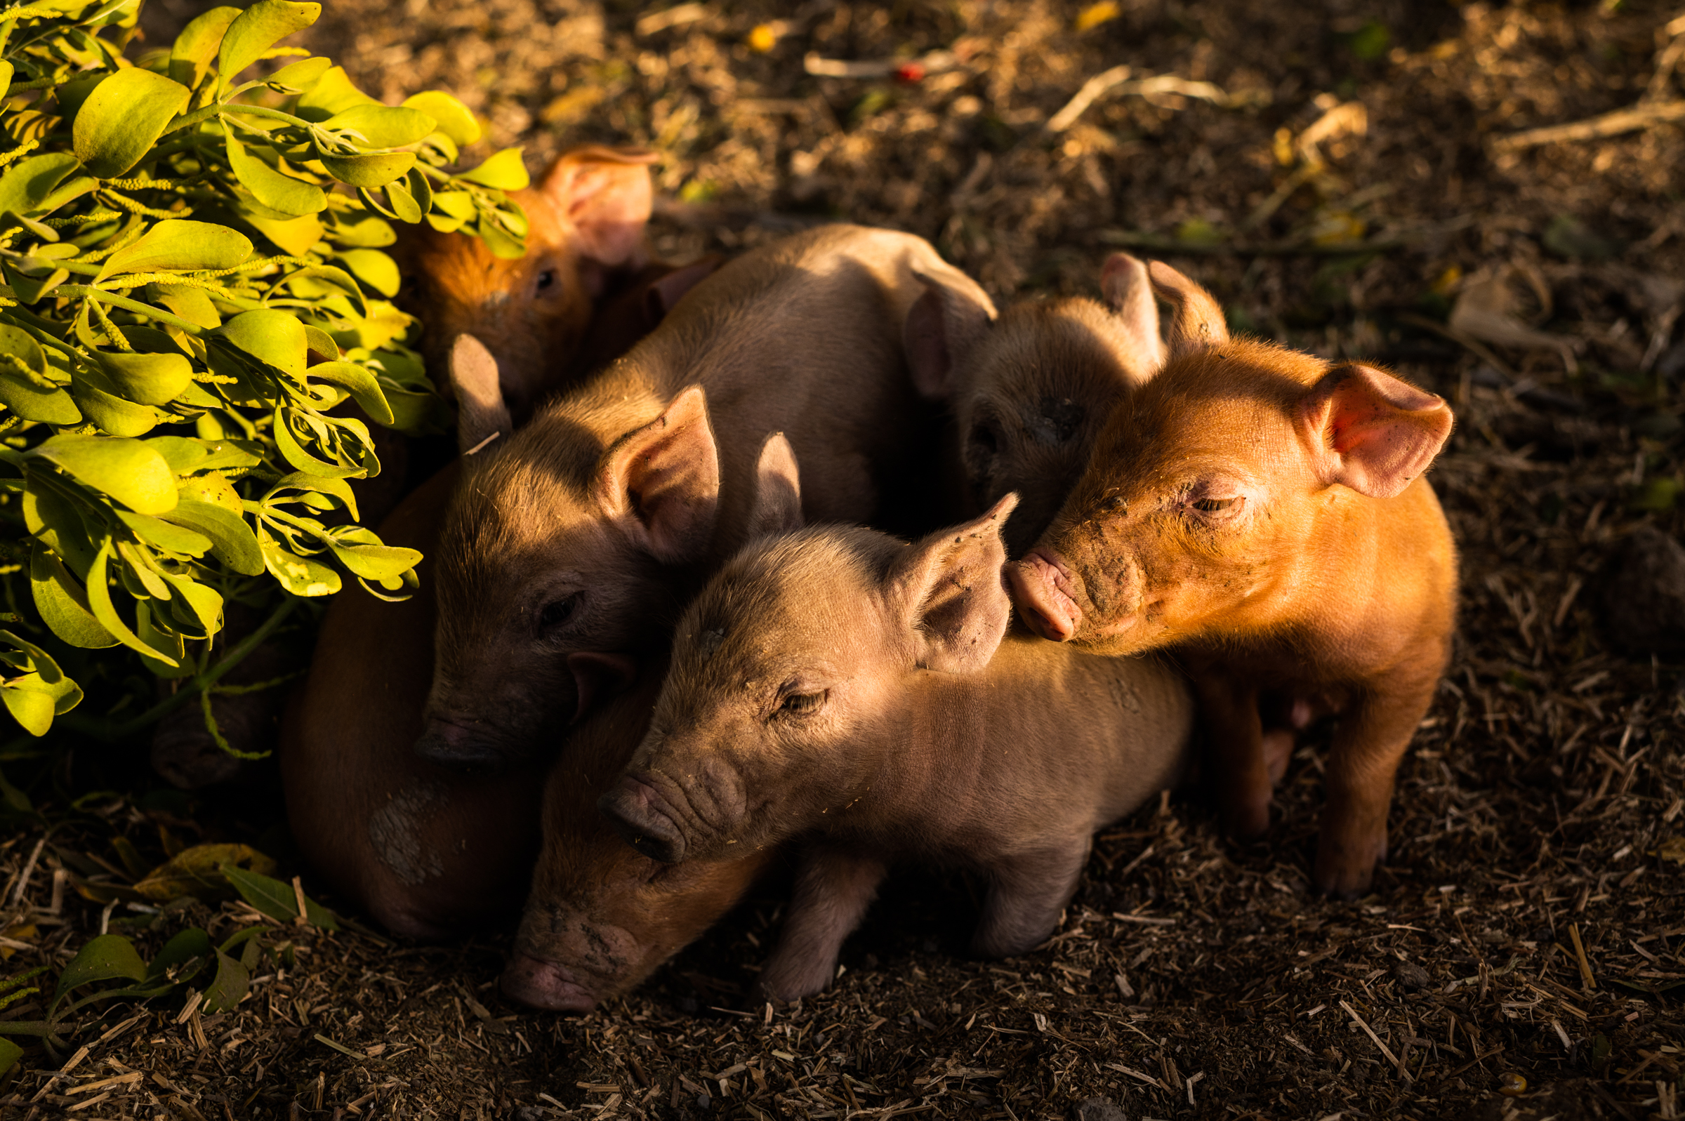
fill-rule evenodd
<path id="1" fill-rule="evenodd" d="M 1163 263 L 996 312 L 886 229 L 650 265 L 637 152 L 544 184 L 536 258 L 409 256 L 460 457 L 381 528 L 420 593 L 339 597 L 281 723 L 339 892 L 519 912 L 504 990 L 580 1011 L 782 865 L 758 996 L 799 1000 L 895 866 L 1028 951 L 1097 829 L 1198 769 L 1255 836 L 1328 716 L 1314 880 L 1368 887 L 1449 652 L 1441 398 L 1230 339 Z"/>

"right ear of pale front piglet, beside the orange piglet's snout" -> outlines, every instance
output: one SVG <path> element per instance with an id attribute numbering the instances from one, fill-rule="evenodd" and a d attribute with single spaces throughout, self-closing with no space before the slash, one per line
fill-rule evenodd
<path id="1" fill-rule="evenodd" d="M 915 661 L 940 673 L 989 664 L 1013 619 L 1001 528 L 1018 506 L 1008 494 L 982 518 L 910 544 L 890 568 L 886 592 L 913 636 Z"/>

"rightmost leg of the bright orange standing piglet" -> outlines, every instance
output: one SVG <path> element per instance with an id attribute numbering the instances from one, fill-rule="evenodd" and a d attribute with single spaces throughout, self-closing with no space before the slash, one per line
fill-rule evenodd
<path id="1" fill-rule="evenodd" d="M 1361 695 L 1340 715 L 1328 752 L 1328 804 L 1316 845 L 1316 885 L 1356 898 L 1368 890 L 1375 861 L 1387 856 L 1387 807 L 1393 777 L 1415 725 L 1434 700 L 1439 666 L 1404 668 L 1385 686 Z"/>

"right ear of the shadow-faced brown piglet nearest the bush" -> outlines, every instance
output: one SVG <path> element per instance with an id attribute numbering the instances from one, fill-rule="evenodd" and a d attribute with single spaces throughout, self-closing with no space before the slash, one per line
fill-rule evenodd
<path id="1" fill-rule="evenodd" d="M 719 511 L 719 448 L 708 400 L 689 386 L 661 416 L 603 452 L 596 499 L 632 541 L 655 560 L 701 560 Z"/>

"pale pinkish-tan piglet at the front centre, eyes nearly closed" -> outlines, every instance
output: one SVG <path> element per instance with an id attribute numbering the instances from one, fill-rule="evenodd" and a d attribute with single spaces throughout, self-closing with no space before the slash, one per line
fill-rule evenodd
<path id="1" fill-rule="evenodd" d="M 1094 831 L 1178 779 L 1186 683 L 1151 659 L 1006 634 L 1001 526 L 1016 496 L 917 544 L 799 529 L 782 457 L 790 482 L 763 491 L 757 516 L 782 533 L 686 610 L 650 733 L 600 807 L 662 861 L 809 836 L 760 974 L 770 998 L 829 983 L 896 860 L 987 877 L 977 954 L 1036 946 Z"/>

